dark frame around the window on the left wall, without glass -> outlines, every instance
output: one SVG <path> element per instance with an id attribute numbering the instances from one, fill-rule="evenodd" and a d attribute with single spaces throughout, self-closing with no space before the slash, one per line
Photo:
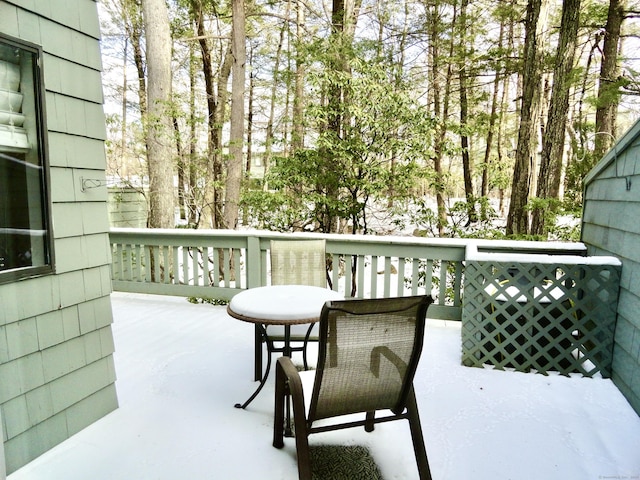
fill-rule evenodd
<path id="1" fill-rule="evenodd" d="M 47 130 L 47 113 L 45 106 L 45 84 L 43 72 L 42 46 L 6 35 L 0 32 L 0 43 L 24 50 L 34 56 L 33 62 L 33 102 L 35 105 L 36 141 L 38 142 L 38 159 L 42 166 L 40 177 L 40 208 L 42 209 L 43 227 L 45 239 L 43 242 L 45 263 L 43 265 L 16 267 L 8 270 L 0 270 L 0 285 L 24 280 L 27 278 L 41 277 L 55 273 L 55 255 L 53 240 L 53 221 L 51 206 L 51 174 L 49 164 L 49 145 Z"/>

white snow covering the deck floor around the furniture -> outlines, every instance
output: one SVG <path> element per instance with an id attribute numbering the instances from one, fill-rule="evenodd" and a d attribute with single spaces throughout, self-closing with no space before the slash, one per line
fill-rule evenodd
<path id="1" fill-rule="evenodd" d="M 271 446 L 273 379 L 255 388 L 253 326 L 184 298 L 112 296 L 120 408 L 9 480 L 297 478 Z M 434 480 L 640 478 L 640 418 L 610 380 L 460 365 L 460 324 L 430 321 L 416 392 Z M 417 478 L 408 424 L 319 434 Z"/>

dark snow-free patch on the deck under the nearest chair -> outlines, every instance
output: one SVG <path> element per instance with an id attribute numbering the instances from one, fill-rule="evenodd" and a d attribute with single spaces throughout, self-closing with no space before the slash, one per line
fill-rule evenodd
<path id="1" fill-rule="evenodd" d="M 369 450 L 360 446 L 310 447 L 314 480 L 382 480 Z"/>

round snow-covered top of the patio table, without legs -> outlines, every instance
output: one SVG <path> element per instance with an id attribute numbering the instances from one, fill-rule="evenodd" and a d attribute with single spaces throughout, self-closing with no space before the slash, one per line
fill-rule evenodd
<path id="1" fill-rule="evenodd" d="M 271 285 L 250 288 L 231 299 L 227 312 L 246 322 L 271 325 L 313 323 L 329 300 L 344 296 L 328 288 L 308 285 Z"/>

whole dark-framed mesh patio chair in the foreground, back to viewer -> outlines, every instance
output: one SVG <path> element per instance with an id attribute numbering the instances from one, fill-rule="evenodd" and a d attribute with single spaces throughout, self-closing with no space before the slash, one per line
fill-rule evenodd
<path id="1" fill-rule="evenodd" d="M 309 435 L 356 426 L 371 432 L 376 423 L 400 419 L 409 421 L 420 478 L 431 479 L 413 377 L 432 301 L 421 296 L 327 302 L 317 369 L 298 372 L 290 358 L 278 359 L 273 446 L 284 446 L 291 396 L 300 479 L 311 478 Z M 348 417 L 335 418 L 343 415 Z"/>

